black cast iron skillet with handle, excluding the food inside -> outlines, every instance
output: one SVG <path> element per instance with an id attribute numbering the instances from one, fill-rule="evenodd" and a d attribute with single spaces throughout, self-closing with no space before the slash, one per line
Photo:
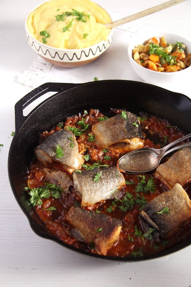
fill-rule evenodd
<path id="1" fill-rule="evenodd" d="M 23 109 L 46 92 L 57 92 L 26 117 Z M 33 150 L 38 145 L 40 133 L 50 130 L 54 125 L 63 122 L 68 116 L 98 108 L 109 115 L 110 108 L 126 108 L 131 112 L 144 111 L 160 116 L 177 125 L 185 133 L 191 132 L 191 100 L 178 93 L 141 82 L 125 80 L 105 80 L 85 84 L 46 83 L 34 89 L 15 104 L 15 136 L 13 137 L 8 158 L 9 181 L 13 194 L 27 216 L 31 228 L 38 235 L 52 239 L 61 245 L 78 252 L 106 259 L 135 261 L 170 254 L 191 244 L 186 238 L 179 244 L 160 253 L 144 257 L 109 257 L 92 254 L 72 247 L 49 232 L 34 212 L 26 191 L 27 168 L 33 157 Z"/>

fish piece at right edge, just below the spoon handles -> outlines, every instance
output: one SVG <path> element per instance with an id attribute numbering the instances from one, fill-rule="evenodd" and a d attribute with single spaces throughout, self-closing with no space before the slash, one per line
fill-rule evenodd
<path id="1" fill-rule="evenodd" d="M 154 176 L 169 189 L 175 183 L 184 185 L 191 181 L 191 147 L 175 152 L 169 160 L 157 167 Z"/>

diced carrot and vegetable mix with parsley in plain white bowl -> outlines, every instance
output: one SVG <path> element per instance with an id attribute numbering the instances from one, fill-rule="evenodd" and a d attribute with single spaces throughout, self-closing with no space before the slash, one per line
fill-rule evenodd
<path id="1" fill-rule="evenodd" d="M 145 45 L 133 49 L 133 59 L 142 67 L 157 72 L 176 72 L 190 66 L 191 53 L 185 53 L 181 42 L 167 44 L 165 37 L 151 38 Z"/>

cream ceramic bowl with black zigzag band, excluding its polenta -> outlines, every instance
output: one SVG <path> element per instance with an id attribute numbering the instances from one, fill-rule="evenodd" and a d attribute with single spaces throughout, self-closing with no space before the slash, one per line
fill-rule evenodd
<path id="1" fill-rule="evenodd" d="M 29 32 L 27 20 L 30 13 L 42 4 L 43 3 L 34 7 L 27 15 L 25 20 L 25 33 L 29 46 L 31 46 L 31 48 L 37 52 L 38 55 L 51 64 L 61 67 L 80 67 L 97 59 L 111 44 L 113 29 L 111 29 L 107 41 L 101 41 L 93 46 L 83 49 L 59 49 L 48 46 L 36 40 Z"/>

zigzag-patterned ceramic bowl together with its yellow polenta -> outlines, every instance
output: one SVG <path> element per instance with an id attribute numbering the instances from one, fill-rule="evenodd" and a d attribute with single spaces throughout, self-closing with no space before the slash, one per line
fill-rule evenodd
<path id="1" fill-rule="evenodd" d="M 51 0 L 29 12 L 25 32 L 31 48 L 53 65 L 79 67 L 111 44 L 107 11 L 89 0 Z"/>

